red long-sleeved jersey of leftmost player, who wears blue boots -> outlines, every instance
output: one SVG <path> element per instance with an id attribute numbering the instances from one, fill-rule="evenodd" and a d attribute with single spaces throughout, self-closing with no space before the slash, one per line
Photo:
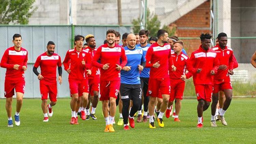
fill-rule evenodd
<path id="1" fill-rule="evenodd" d="M 22 70 L 23 66 L 27 67 L 28 51 L 20 47 L 20 51 L 16 51 L 14 46 L 5 50 L 1 59 L 1 67 L 6 68 L 5 79 L 7 80 L 24 80 L 25 74 Z M 15 64 L 20 65 L 19 69 L 13 69 Z"/>

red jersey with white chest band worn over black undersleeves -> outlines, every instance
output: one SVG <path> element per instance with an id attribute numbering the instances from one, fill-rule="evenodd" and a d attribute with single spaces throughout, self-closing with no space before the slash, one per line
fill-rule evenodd
<path id="1" fill-rule="evenodd" d="M 41 75 L 44 77 L 41 81 L 56 81 L 56 68 L 61 67 L 61 59 L 58 54 L 48 56 L 46 52 L 39 55 L 35 61 L 34 67 L 40 66 Z"/>

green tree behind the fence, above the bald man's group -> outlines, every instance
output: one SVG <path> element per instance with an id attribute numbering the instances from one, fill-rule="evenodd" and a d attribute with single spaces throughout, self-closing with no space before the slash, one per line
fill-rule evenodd
<path id="1" fill-rule="evenodd" d="M 133 25 L 140 25 L 140 18 L 133 19 L 132 20 Z M 161 22 L 158 20 L 157 15 L 150 14 L 149 9 L 147 9 L 147 22 L 146 22 L 146 29 L 150 31 L 150 37 L 154 36 L 156 37 L 157 31 L 160 29 Z M 170 29 L 169 26 L 164 25 L 162 29 L 165 29 L 168 31 L 169 36 L 174 35 L 176 29 L 172 28 Z M 132 28 L 134 33 L 138 33 L 140 31 L 140 26 L 134 26 Z"/>

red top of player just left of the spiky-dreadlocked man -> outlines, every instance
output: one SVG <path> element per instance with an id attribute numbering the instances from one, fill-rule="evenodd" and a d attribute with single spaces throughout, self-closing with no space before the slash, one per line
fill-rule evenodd
<path id="1" fill-rule="evenodd" d="M 169 64 L 170 81 L 182 82 L 182 79 L 181 79 L 182 75 L 186 75 L 187 79 L 190 78 L 192 74 L 190 72 L 186 74 L 188 60 L 189 60 L 187 55 L 183 54 L 182 52 L 179 55 L 175 54 L 174 52 L 171 52 L 171 54 L 172 54 L 172 59 L 169 58 L 169 61 L 171 60 L 173 61 L 173 65 L 176 67 L 176 71 L 172 71 L 171 64 Z"/>

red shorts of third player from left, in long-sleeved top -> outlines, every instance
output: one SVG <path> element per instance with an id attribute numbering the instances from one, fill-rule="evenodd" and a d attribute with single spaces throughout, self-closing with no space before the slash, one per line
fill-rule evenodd
<path id="1" fill-rule="evenodd" d="M 81 97 L 84 92 L 89 93 L 88 80 L 73 80 L 69 79 L 69 88 L 71 97 L 73 94 L 78 93 L 78 96 Z"/>

